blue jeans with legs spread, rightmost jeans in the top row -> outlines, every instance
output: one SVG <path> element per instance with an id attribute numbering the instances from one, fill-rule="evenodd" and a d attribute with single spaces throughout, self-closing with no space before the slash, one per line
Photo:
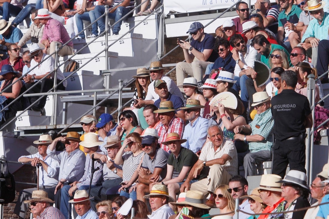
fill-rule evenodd
<path id="1" fill-rule="evenodd" d="M 97 5 L 95 7 L 94 11 L 95 11 L 95 17 L 100 17 L 100 16 L 102 16 L 102 14 L 105 13 L 105 7 L 103 5 Z M 109 13 L 109 18 L 114 19 L 114 21 L 117 22 L 128 12 L 130 12 L 129 9 L 127 9 L 126 7 L 119 6 L 113 13 Z M 130 14 L 130 16 L 133 16 L 133 14 Z M 100 32 L 101 33 L 104 32 L 105 31 L 105 17 L 103 17 L 103 19 L 99 19 L 97 21 L 97 24 L 98 24 Z M 114 35 L 118 34 L 119 31 L 121 30 L 121 24 L 122 24 L 122 20 L 113 26 L 112 31 L 113 31 Z"/>

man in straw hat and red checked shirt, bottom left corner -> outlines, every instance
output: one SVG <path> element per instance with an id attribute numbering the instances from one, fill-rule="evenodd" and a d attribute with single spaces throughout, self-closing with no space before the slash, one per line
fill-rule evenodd
<path id="1" fill-rule="evenodd" d="M 24 203 L 31 205 L 31 213 L 36 215 L 37 219 L 65 219 L 58 208 L 50 206 L 50 203 L 54 203 L 54 201 L 48 198 L 45 191 L 33 191 L 32 199 L 24 201 Z"/>

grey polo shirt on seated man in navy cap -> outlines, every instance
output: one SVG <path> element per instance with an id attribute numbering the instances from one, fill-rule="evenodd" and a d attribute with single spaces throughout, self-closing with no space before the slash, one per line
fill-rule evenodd
<path id="1" fill-rule="evenodd" d="M 155 168 L 161 168 L 162 171 L 160 173 L 159 179 L 159 181 L 161 181 L 167 175 L 168 157 L 169 154 L 166 151 L 164 151 L 162 148 L 157 148 L 153 159 L 150 158 L 150 156 L 148 156 L 147 154 L 145 154 L 141 167 L 150 170 L 151 173 L 154 172 Z"/>

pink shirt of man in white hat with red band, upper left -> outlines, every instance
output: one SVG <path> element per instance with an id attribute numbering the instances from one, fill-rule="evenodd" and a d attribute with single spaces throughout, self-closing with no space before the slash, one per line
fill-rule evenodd
<path id="1" fill-rule="evenodd" d="M 71 38 L 68 36 L 68 33 L 61 22 L 56 19 L 49 18 L 43 29 L 42 40 L 44 39 L 48 39 L 50 43 L 52 41 L 57 41 L 64 44 Z M 73 42 L 71 41 L 67 45 L 73 47 Z"/>

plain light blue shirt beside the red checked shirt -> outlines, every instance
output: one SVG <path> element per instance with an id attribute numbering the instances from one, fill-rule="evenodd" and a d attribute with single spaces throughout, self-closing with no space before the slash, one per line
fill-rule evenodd
<path id="1" fill-rule="evenodd" d="M 208 119 L 199 116 L 191 125 L 191 122 L 185 126 L 182 139 L 187 139 L 182 143 L 182 147 L 188 148 L 194 153 L 201 150 L 202 145 L 207 139 Z"/>

